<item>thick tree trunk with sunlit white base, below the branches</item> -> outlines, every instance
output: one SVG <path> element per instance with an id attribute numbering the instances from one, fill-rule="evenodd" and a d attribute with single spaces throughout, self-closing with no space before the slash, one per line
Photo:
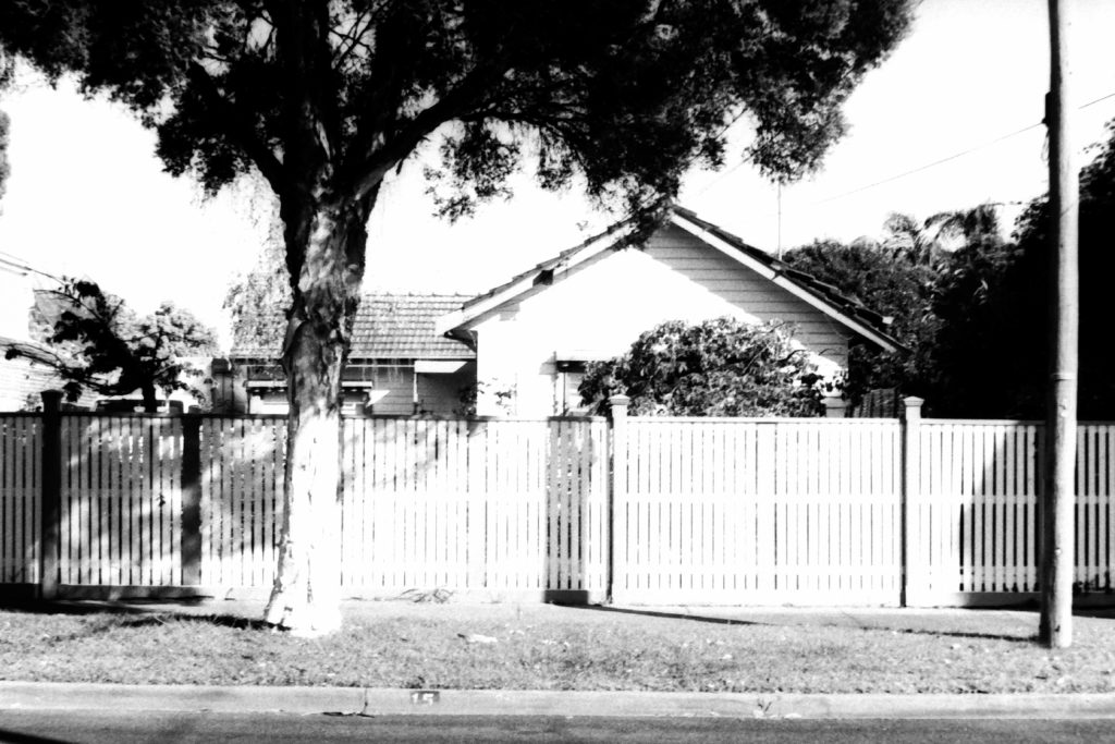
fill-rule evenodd
<path id="1" fill-rule="evenodd" d="M 282 357 L 290 413 L 279 567 L 265 620 L 302 636 L 341 621 L 341 370 L 372 202 L 283 205 L 294 284 Z"/>

